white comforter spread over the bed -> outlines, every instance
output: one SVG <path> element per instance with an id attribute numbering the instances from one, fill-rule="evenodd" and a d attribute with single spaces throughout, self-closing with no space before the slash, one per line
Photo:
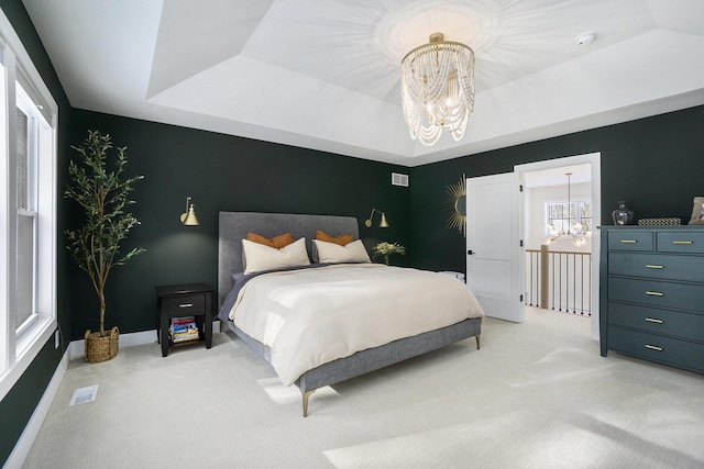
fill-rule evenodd
<path id="1" fill-rule="evenodd" d="M 319 365 L 484 312 L 452 276 L 358 264 L 255 277 L 229 315 L 271 347 L 271 364 L 288 386 Z"/>

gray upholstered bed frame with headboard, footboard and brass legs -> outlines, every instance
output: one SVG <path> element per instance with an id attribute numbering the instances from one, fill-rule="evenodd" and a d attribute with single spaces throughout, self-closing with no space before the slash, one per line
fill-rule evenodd
<path id="1" fill-rule="evenodd" d="M 261 355 L 266 361 L 273 364 L 276 350 L 267 340 L 260 340 L 238 327 L 230 320 L 230 311 L 223 304 L 228 294 L 235 287 L 235 278 L 241 278 L 243 266 L 243 238 L 248 233 L 257 233 L 265 237 L 274 237 L 282 233 L 292 233 L 294 239 L 304 237 L 308 253 L 312 253 L 312 239 L 316 238 L 317 231 L 323 231 L 332 236 L 339 234 L 352 234 L 354 239 L 359 239 L 358 220 L 350 216 L 331 215 L 301 215 L 301 214 L 279 214 L 279 213 L 256 213 L 256 212 L 220 212 L 219 220 L 219 256 L 218 256 L 218 304 L 221 306 L 220 319 L 228 327 L 234 332 L 244 343 Z M 317 266 L 316 266 L 317 267 Z M 342 270 L 344 266 L 330 266 L 324 268 L 338 268 Z M 370 270 L 385 268 L 385 266 L 366 266 Z M 392 269 L 392 268 L 389 268 Z M 396 268 L 398 269 L 398 268 Z M 414 269 L 399 269 L 414 270 Z M 427 272 L 428 275 L 430 272 Z M 283 272 L 287 276 L 288 272 Z M 260 278 L 270 276 L 263 275 Z M 444 275 L 436 275 L 447 277 Z M 452 281 L 459 282 L 457 279 Z M 253 280 L 251 281 L 253 283 Z M 346 283 L 345 283 L 346 284 Z M 469 292 L 469 290 L 466 290 Z M 471 293 L 470 293 L 471 295 Z M 230 294 L 231 298 L 234 295 Z M 240 295 L 242 297 L 242 295 Z M 473 295 L 471 295 L 473 298 Z M 228 299 L 228 301 L 231 301 Z M 476 303 L 479 305 L 479 303 Z M 229 308 L 228 308 L 229 309 Z M 480 334 L 482 327 L 483 312 L 474 312 L 475 317 L 462 319 L 457 323 L 447 326 L 420 332 L 411 336 L 393 339 L 378 346 L 361 349 L 349 356 L 322 362 L 297 376 L 293 381 L 301 392 L 302 414 L 308 415 L 308 403 L 310 395 L 319 388 L 331 386 L 383 367 L 394 365 L 408 358 L 438 349 L 454 342 L 475 337 L 476 347 L 480 348 Z M 234 314 L 234 313 L 233 313 Z M 239 319 L 239 316 L 238 316 Z M 237 319 L 235 319 L 237 321 Z M 254 334 L 252 334 L 254 335 Z M 276 367 L 275 367 L 276 368 Z M 280 378 L 280 375 L 279 375 Z M 290 378 L 289 378 L 290 379 Z M 283 381 L 284 382 L 284 381 Z"/>

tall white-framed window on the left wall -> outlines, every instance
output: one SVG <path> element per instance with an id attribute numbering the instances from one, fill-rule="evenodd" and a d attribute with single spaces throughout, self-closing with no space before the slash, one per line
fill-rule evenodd
<path id="1" fill-rule="evenodd" d="M 56 328 L 58 108 L 0 12 L 0 399 Z"/>

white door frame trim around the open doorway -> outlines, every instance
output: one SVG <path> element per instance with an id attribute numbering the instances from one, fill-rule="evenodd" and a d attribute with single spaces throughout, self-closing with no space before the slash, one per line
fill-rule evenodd
<path id="1" fill-rule="evenodd" d="M 520 183 L 524 183 L 525 174 L 531 171 L 539 171 L 542 169 L 561 168 L 564 166 L 574 165 L 591 165 L 592 177 L 592 220 L 594 221 L 594 228 L 602 224 L 602 154 L 601 152 L 588 153 L 576 156 L 565 156 L 562 158 L 549 159 L 544 161 L 528 163 L 525 165 L 514 166 L 514 171 L 519 174 Z M 525 199 L 524 199 L 525 201 Z M 525 203 L 525 202 L 524 202 Z M 524 208 L 525 213 L 525 208 Z M 525 225 L 522 226 L 525 230 Z M 525 238 L 525 232 L 521 232 L 521 237 Z M 598 340 L 598 271 L 600 271 L 600 253 L 601 253 L 601 237 L 596 230 L 592 233 L 592 320 L 591 320 L 591 336 L 594 340 Z"/>

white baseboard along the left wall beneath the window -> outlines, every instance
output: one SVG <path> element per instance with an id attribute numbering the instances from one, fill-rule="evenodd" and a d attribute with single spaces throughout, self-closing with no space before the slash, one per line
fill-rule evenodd
<path id="1" fill-rule="evenodd" d="M 30 449 L 32 449 L 32 445 L 34 445 L 36 435 L 38 435 L 40 428 L 42 428 L 42 424 L 44 423 L 44 418 L 46 418 L 46 414 L 48 413 L 52 402 L 54 402 L 54 398 L 58 392 L 58 387 L 64 380 L 64 376 L 68 369 L 68 349 L 66 349 L 64 356 L 58 362 L 58 366 L 56 367 L 56 370 L 54 371 L 52 380 L 44 390 L 44 394 L 42 394 L 40 403 L 34 409 L 34 412 L 32 412 L 32 416 L 24 427 L 24 431 L 22 431 L 20 439 L 18 439 L 10 457 L 2 466 L 3 469 L 21 468 L 24 465 L 24 460 L 30 454 Z"/>

